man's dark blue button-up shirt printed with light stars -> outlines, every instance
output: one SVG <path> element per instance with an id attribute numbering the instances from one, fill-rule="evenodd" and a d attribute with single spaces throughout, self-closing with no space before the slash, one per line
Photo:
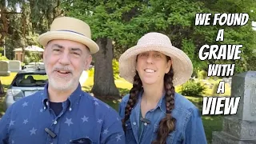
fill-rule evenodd
<path id="1" fill-rule="evenodd" d="M 47 88 L 6 110 L 0 120 L 1 144 L 125 143 L 121 119 L 106 103 L 83 92 L 79 85 L 56 116 L 49 108 Z M 45 128 L 57 136 L 50 137 Z"/>

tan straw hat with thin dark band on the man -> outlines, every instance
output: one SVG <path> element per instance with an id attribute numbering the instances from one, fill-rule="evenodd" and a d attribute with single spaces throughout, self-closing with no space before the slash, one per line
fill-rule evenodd
<path id="1" fill-rule="evenodd" d="M 50 31 L 41 34 L 38 37 L 38 42 L 42 46 L 46 46 L 48 42 L 54 39 L 80 42 L 89 48 L 91 54 L 99 50 L 97 43 L 91 39 L 90 26 L 77 18 L 55 18 L 50 26 Z"/>

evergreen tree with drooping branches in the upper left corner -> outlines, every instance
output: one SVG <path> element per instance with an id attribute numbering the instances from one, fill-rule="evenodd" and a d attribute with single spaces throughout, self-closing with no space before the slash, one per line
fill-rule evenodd
<path id="1" fill-rule="evenodd" d="M 38 34 L 49 30 L 54 18 L 62 15 L 61 0 L 12 0 L 0 3 L 0 31 L 6 37 L 6 56 L 13 59 L 14 48 L 38 45 Z M 0 40 L 1 42 L 1 40 Z M 1 44 L 0 44 L 1 46 Z M 23 50 L 23 56 L 24 50 Z"/>

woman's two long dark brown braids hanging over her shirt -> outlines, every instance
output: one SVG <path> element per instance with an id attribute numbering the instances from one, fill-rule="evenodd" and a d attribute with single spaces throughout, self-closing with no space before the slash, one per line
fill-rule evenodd
<path id="1" fill-rule="evenodd" d="M 166 56 L 167 57 L 167 56 Z M 170 57 L 167 57 L 167 61 L 170 60 Z M 166 144 L 166 139 L 168 135 L 174 131 L 176 119 L 171 116 L 172 110 L 174 110 L 174 94 L 175 89 L 173 86 L 174 70 L 172 66 L 167 74 L 164 76 L 164 88 L 166 90 L 166 117 L 162 118 L 159 122 L 158 134 L 156 140 L 153 144 Z M 130 118 L 130 112 L 133 109 L 134 105 L 138 101 L 138 93 L 142 90 L 142 81 L 138 76 L 138 72 L 134 76 L 133 87 L 130 90 L 130 98 L 127 102 L 125 109 L 125 117 L 122 119 L 123 130 L 126 130 L 125 123 Z"/>

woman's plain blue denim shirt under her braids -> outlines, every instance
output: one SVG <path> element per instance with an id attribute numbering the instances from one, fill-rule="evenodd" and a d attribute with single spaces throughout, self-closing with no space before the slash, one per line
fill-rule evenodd
<path id="1" fill-rule="evenodd" d="M 122 98 L 122 102 L 120 103 L 119 114 L 121 118 L 124 118 L 128 100 L 129 94 Z M 159 122 L 166 116 L 166 98 L 162 96 L 162 99 L 160 99 L 154 110 L 150 110 L 146 113 L 146 119 L 150 120 L 150 124 L 143 126 L 142 134 L 138 135 L 141 100 L 142 92 L 140 92 L 138 102 L 131 111 L 130 119 L 126 121 L 126 143 L 129 144 L 150 144 L 153 142 L 157 137 Z M 206 134 L 202 126 L 202 118 L 198 108 L 181 94 L 175 93 L 172 116 L 176 118 L 176 128 L 169 134 L 166 143 L 207 143 Z"/>

